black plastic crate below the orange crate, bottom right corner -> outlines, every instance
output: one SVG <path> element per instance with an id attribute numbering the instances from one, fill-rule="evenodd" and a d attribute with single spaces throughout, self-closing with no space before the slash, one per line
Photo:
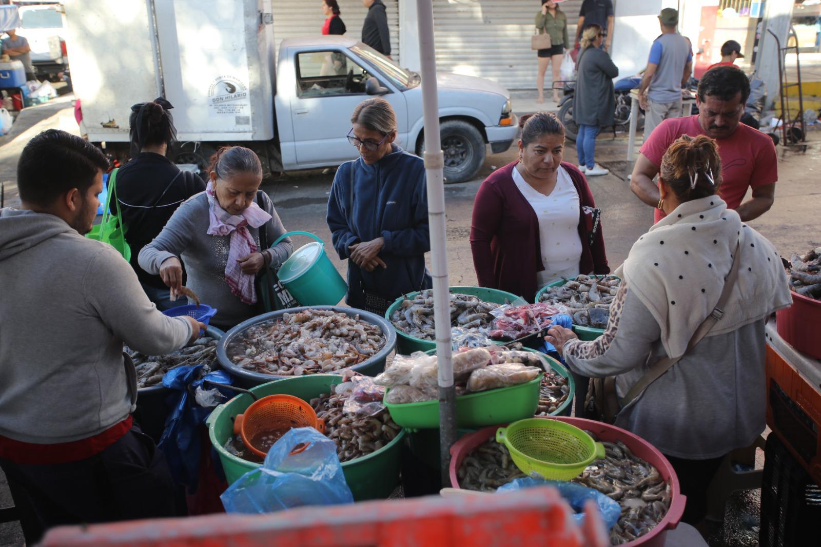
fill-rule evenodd
<path id="1" fill-rule="evenodd" d="M 818 486 L 776 434 L 764 448 L 759 547 L 819 545 Z"/>

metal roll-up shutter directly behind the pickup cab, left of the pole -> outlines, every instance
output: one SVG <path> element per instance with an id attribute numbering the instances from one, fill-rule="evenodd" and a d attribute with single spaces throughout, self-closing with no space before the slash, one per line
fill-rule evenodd
<path id="1" fill-rule="evenodd" d="M 339 16 L 345 23 L 346 36 L 362 38 L 362 22 L 368 10 L 361 0 L 337 0 Z M 399 58 L 399 0 L 383 0 L 388 13 L 388 29 L 391 32 L 391 57 Z M 273 39 L 277 44 L 286 38 L 322 34 L 325 16 L 322 2 L 297 0 L 273 0 Z"/>

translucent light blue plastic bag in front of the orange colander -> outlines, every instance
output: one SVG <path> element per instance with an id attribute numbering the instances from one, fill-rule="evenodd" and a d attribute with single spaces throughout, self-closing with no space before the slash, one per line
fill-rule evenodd
<path id="1" fill-rule="evenodd" d="M 299 453 L 294 448 L 308 447 Z M 220 496 L 227 513 L 273 513 L 303 505 L 354 503 L 342 474 L 337 444 L 313 427 L 296 427 Z"/>

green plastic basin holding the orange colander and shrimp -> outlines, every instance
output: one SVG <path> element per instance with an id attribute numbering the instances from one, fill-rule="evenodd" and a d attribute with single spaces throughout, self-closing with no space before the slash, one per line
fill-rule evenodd
<path id="1" fill-rule="evenodd" d="M 333 385 L 342 382 L 339 375 L 310 375 L 281 379 L 251 388 L 257 397 L 287 394 L 310 402 L 323 393 L 330 393 Z M 233 434 L 234 417 L 250 407 L 253 400 L 243 393 L 219 405 L 211 412 L 206 423 L 213 448 L 219 454 L 222 469 L 228 484 L 259 467 L 259 463 L 248 462 L 229 453 L 224 447 Z M 342 463 L 342 472 L 356 501 L 364 499 L 386 499 L 399 484 L 401 439 L 405 430 L 396 438 L 374 453 Z"/>

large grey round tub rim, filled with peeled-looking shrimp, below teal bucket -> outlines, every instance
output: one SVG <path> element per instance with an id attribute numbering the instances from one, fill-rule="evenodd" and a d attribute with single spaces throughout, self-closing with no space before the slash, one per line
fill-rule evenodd
<path id="1" fill-rule="evenodd" d="M 278 319 L 286 313 L 299 313 L 302 310 L 332 310 L 335 312 L 348 315 L 349 317 L 359 315 L 360 319 L 366 321 L 367 323 L 377 325 L 379 329 L 382 329 L 382 333 L 385 336 L 384 347 L 370 359 L 362 361 L 357 365 L 351 365 L 347 368 L 350 368 L 351 370 L 356 370 L 357 372 L 360 372 L 361 374 L 367 376 L 375 376 L 383 370 L 385 370 L 385 360 L 388 358 L 390 352 L 393 351 L 393 347 L 397 345 L 397 332 L 395 329 L 393 329 L 392 325 L 388 322 L 387 319 L 380 317 L 376 314 L 372 314 L 369 311 L 357 310 L 356 308 L 347 308 L 342 306 L 301 306 L 298 308 L 289 308 L 287 310 L 272 311 L 267 314 L 252 317 L 251 319 L 248 319 L 247 321 L 243 321 L 241 324 L 236 325 L 236 327 L 229 330 L 225 334 L 225 336 L 223 336 L 220 339 L 219 344 L 217 346 L 217 358 L 219 360 L 219 364 L 222 365 L 222 368 L 224 370 L 227 370 L 228 373 L 234 376 L 234 378 L 236 379 L 236 385 L 242 388 L 253 388 L 255 386 L 258 386 L 259 384 L 265 384 L 275 379 L 293 378 L 293 376 L 268 375 L 264 374 L 263 372 L 255 372 L 253 370 L 243 369 L 241 366 L 237 366 L 233 361 L 231 361 L 231 359 L 228 358 L 226 349 L 233 338 L 236 338 L 236 336 L 245 331 L 245 329 L 248 329 L 250 326 L 259 323 L 264 323 L 272 319 Z"/>

